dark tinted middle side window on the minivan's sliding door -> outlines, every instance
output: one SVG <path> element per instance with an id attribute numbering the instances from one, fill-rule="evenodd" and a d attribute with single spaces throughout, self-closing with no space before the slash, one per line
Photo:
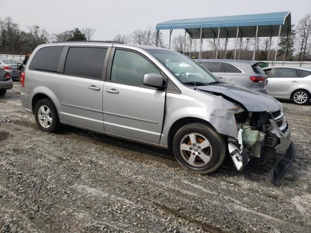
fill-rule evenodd
<path id="1" fill-rule="evenodd" d="M 69 48 L 64 73 L 91 79 L 102 79 L 106 48 Z"/>

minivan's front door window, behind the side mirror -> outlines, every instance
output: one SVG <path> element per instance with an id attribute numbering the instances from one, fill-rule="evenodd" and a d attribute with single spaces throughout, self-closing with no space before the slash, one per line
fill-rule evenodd
<path id="1" fill-rule="evenodd" d="M 142 83 L 145 74 L 148 73 L 160 74 L 154 65 L 137 53 L 125 50 L 115 51 L 111 68 L 111 81 L 150 88 Z"/>

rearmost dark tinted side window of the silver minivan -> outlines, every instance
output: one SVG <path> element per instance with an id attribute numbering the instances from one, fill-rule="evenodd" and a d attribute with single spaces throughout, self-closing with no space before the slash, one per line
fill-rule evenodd
<path id="1" fill-rule="evenodd" d="M 61 73 L 62 70 L 58 70 L 58 63 L 63 49 L 64 46 L 51 46 L 38 50 L 29 68 Z"/>

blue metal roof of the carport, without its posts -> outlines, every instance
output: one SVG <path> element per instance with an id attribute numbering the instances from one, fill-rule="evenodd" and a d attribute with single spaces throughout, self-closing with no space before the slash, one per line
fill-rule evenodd
<path id="1" fill-rule="evenodd" d="M 156 30 L 186 29 L 193 39 L 200 38 L 203 29 L 204 38 L 217 37 L 218 28 L 222 28 L 220 37 L 236 37 L 236 28 L 241 27 L 242 37 L 255 36 L 256 26 L 259 26 L 258 36 L 277 36 L 279 25 L 282 25 L 281 36 L 291 31 L 291 13 L 276 12 L 241 16 L 206 17 L 174 19 L 156 24 Z M 223 30 L 224 29 L 224 30 Z"/>

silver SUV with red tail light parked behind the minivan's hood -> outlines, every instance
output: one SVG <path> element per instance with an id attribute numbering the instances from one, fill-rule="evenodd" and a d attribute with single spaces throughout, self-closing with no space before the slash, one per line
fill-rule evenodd
<path id="1" fill-rule="evenodd" d="M 228 59 L 196 60 L 219 80 L 267 94 L 266 75 L 258 62 Z"/>

